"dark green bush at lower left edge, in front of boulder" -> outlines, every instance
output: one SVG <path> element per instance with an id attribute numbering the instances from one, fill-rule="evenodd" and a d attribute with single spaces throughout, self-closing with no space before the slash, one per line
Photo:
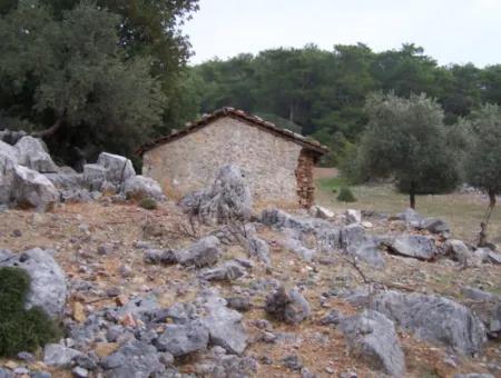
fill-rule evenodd
<path id="1" fill-rule="evenodd" d="M 40 308 L 23 308 L 30 287 L 28 273 L 20 268 L 0 268 L 0 356 L 35 351 L 57 339 L 60 329 Z"/>

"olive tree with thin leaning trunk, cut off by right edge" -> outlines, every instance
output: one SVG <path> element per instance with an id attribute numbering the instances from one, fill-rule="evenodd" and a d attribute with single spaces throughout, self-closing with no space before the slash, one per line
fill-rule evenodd
<path id="1" fill-rule="evenodd" d="M 479 240 L 479 245 L 483 246 L 495 196 L 501 195 L 501 108 L 497 105 L 483 106 L 473 113 L 470 125 L 470 143 L 464 165 L 466 181 L 489 196 Z"/>

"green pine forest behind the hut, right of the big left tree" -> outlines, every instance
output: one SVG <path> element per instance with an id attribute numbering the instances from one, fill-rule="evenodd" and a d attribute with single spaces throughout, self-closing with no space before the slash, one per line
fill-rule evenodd
<path id="1" fill-rule="evenodd" d="M 414 44 L 382 52 L 362 43 L 337 44 L 332 51 L 314 44 L 272 49 L 210 60 L 191 68 L 190 74 L 200 112 L 242 108 L 337 152 L 360 139 L 367 123 L 365 99 L 374 91 L 404 98 L 426 93 L 442 106 L 446 125 L 484 102 L 501 103 L 501 64 L 443 67 Z M 326 163 L 337 160 L 333 153 Z"/>

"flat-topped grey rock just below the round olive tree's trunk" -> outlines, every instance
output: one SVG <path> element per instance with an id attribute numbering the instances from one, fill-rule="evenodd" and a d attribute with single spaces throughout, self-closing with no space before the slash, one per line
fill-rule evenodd
<path id="1" fill-rule="evenodd" d="M 393 253 L 419 260 L 432 260 L 436 257 L 434 240 L 422 235 L 400 235 L 390 243 L 389 248 Z"/>

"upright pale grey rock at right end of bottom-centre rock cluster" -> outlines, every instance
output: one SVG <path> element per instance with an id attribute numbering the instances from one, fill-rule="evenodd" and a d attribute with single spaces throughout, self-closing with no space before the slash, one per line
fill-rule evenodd
<path id="1" fill-rule="evenodd" d="M 210 335 L 210 342 L 229 354 L 240 355 L 247 347 L 247 334 L 242 315 L 226 306 L 226 300 L 215 294 L 204 298 L 207 315 L 202 319 Z"/>

